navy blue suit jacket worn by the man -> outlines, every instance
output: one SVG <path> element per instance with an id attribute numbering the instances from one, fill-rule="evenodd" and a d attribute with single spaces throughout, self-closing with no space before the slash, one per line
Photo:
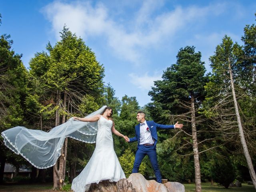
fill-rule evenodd
<path id="1" fill-rule="evenodd" d="M 174 125 L 162 125 L 162 124 L 158 124 L 155 123 L 154 121 L 146 121 L 148 128 L 150 130 L 151 136 L 152 138 L 155 139 L 154 142 L 154 148 L 156 148 L 156 143 L 157 143 L 157 131 L 156 129 L 174 129 Z M 135 126 L 135 136 L 133 138 L 129 138 L 129 142 L 134 142 L 134 141 L 138 141 L 138 146 L 140 144 L 140 124 Z"/>

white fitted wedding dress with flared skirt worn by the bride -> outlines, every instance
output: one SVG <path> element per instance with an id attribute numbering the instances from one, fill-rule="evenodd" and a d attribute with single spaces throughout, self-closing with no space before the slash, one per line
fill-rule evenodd
<path id="1" fill-rule="evenodd" d="M 112 120 L 100 116 L 96 148 L 84 170 L 74 178 L 71 186 L 74 192 L 88 191 L 92 183 L 98 184 L 102 180 L 117 182 L 126 178 L 114 151 L 112 124 Z"/>

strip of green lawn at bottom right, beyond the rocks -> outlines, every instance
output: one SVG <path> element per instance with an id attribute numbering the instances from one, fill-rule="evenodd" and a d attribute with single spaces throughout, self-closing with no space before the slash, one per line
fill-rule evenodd
<path id="1" fill-rule="evenodd" d="M 194 192 L 195 184 L 183 184 L 185 186 L 186 192 Z M 210 183 L 202 183 L 202 192 L 255 192 L 255 188 L 253 185 L 248 185 L 246 183 L 242 183 L 242 187 L 231 187 L 224 188 L 222 186 L 214 185 L 212 186 Z"/>

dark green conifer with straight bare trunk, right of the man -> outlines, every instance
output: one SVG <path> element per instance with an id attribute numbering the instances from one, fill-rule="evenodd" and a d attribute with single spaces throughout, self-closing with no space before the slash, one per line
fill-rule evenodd
<path id="1" fill-rule="evenodd" d="M 176 56 L 176 64 L 168 67 L 162 75 L 163 80 L 155 81 L 149 92 L 152 103 L 148 104 L 151 116 L 159 121 L 170 121 L 170 114 L 186 113 L 191 122 L 192 146 L 196 179 L 196 192 L 202 191 L 200 162 L 196 131 L 196 111 L 204 99 L 206 69 L 201 61 L 201 53 L 195 47 L 181 48 Z M 185 109 L 184 109 L 185 108 Z M 162 118 L 162 120 L 161 120 Z"/>

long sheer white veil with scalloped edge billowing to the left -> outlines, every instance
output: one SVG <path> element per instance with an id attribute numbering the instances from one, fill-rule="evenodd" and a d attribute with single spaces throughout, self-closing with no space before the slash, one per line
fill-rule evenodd
<path id="1" fill-rule="evenodd" d="M 101 114 L 106 106 L 86 117 Z M 98 122 L 82 122 L 70 118 L 66 123 L 49 132 L 17 126 L 2 132 L 4 144 L 16 154 L 22 155 L 33 166 L 45 169 L 56 164 L 66 137 L 86 143 L 95 143 Z"/>

